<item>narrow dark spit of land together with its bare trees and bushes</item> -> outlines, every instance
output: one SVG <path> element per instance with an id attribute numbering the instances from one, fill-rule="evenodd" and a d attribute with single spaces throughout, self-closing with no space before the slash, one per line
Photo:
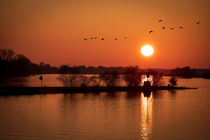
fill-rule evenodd
<path id="1" fill-rule="evenodd" d="M 142 83 L 142 79 L 144 82 Z M 124 75 L 117 71 L 106 71 L 98 77 L 87 77 L 76 72 L 62 74 L 58 77 L 64 87 L 42 86 L 43 77 L 40 76 L 40 87 L 0 87 L 0 95 L 32 95 L 32 94 L 53 94 L 53 93 L 99 93 L 99 92 L 143 92 L 150 95 L 156 90 L 184 90 L 197 89 L 189 87 L 178 87 L 176 77 L 171 77 L 167 86 L 162 85 L 162 76 L 155 72 L 147 72 L 145 77 L 138 67 L 129 67 Z M 126 86 L 119 86 L 119 81 L 124 80 Z M 122 82 L 122 81 L 121 81 Z M 104 85 L 102 85 L 103 83 Z M 142 85 L 141 85 L 142 84 Z"/>

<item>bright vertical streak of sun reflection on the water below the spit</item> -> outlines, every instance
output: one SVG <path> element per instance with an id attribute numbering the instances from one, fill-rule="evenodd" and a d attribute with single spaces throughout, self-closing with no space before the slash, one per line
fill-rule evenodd
<path id="1" fill-rule="evenodd" d="M 151 94 L 150 97 L 146 97 L 144 93 L 141 93 L 140 101 L 140 137 L 148 140 L 152 134 L 153 95 Z"/>

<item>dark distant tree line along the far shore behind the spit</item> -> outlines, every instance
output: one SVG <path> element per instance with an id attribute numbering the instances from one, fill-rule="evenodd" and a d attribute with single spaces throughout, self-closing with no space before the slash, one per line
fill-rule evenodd
<path id="1" fill-rule="evenodd" d="M 110 72 L 117 72 L 118 74 L 124 74 L 129 71 L 129 67 L 104 67 L 104 66 L 69 66 L 60 65 L 60 67 L 51 66 L 50 64 L 45 64 L 41 62 L 40 64 L 35 64 L 31 62 L 29 58 L 22 54 L 17 54 L 11 49 L 0 49 L 0 77 L 19 77 L 19 76 L 29 76 L 34 74 L 104 74 Z M 196 69 L 191 69 L 190 67 L 175 68 L 172 70 L 160 72 L 158 70 L 143 70 L 142 74 L 147 72 L 153 72 L 153 75 L 157 73 L 167 76 L 175 77 L 203 77 L 210 78 L 210 72 L 205 71 L 203 73 L 197 73 Z M 153 79 L 153 80 L 158 80 Z"/>

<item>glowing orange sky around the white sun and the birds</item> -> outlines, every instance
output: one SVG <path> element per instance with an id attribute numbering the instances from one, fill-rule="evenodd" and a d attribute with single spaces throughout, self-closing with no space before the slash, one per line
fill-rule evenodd
<path id="1" fill-rule="evenodd" d="M 209 0 L 1 0 L 0 48 L 56 66 L 210 68 L 209 7 Z M 83 40 L 92 36 L 105 40 Z M 144 44 L 153 56 L 140 54 Z"/>

